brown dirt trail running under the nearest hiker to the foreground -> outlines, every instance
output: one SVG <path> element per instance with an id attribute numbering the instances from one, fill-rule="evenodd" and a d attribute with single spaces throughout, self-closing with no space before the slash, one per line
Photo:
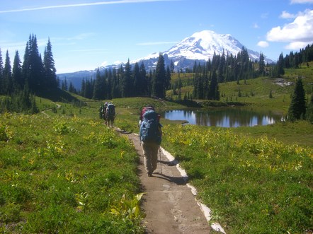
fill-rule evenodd
<path id="1" fill-rule="evenodd" d="M 152 177 L 148 177 L 144 172 L 139 137 L 136 134 L 127 136 L 140 155 L 139 175 L 142 190 L 147 193 L 144 194 L 142 202 L 142 209 L 147 215 L 144 219 L 147 233 L 210 233 L 205 215 L 176 164 L 161 153 L 157 170 Z M 160 156 L 158 158 L 160 159 Z"/>

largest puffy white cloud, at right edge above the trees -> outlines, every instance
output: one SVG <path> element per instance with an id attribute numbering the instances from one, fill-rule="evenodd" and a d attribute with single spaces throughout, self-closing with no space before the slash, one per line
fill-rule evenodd
<path id="1" fill-rule="evenodd" d="M 298 13 L 292 23 L 272 28 L 266 35 L 270 42 L 288 42 L 286 48 L 300 49 L 313 42 L 313 10 Z M 300 46 L 295 48 L 296 46 Z"/>

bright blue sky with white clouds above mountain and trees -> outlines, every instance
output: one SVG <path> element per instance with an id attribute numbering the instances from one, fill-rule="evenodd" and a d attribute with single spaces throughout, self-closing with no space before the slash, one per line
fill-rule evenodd
<path id="1" fill-rule="evenodd" d="M 57 74 L 164 52 L 202 30 L 231 34 L 271 59 L 313 43 L 313 0 L 1 0 L 0 49 L 23 61 L 30 34 Z"/>

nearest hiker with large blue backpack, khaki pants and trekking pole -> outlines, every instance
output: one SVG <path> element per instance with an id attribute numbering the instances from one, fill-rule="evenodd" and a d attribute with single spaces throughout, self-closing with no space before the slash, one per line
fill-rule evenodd
<path id="1" fill-rule="evenodd" d="M 152 106 L 144 107 L 140 113 L 140 141 L 144 154 L 144 168 L 149 177 L 157 169 L 158 151 L 161 144 L 160 115 Z"/>

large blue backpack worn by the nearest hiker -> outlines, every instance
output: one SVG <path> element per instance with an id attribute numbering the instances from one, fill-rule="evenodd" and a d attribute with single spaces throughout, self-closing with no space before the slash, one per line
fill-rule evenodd
<path id="1" fill-rule="evenodd" d="M 140 125 L 140 141 L 161 144 L 162 131 L 159 114 L 154 110 L 144 112 Z"/>

